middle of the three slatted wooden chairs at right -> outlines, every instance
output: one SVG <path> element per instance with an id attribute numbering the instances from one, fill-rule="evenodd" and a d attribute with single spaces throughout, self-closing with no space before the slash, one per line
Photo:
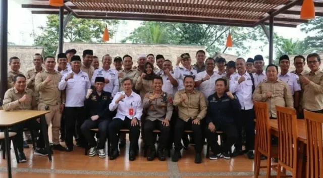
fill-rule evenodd
<path id="1" fill-rule="evenodd" d="M 291 171 L 292 177 L 297 176 L 297 153 L 298 153 L 298 131 L 297 116 L 294 108 L 276 106 L 279 153 L 278 153 L 278 174 L 281 177 L 281 167 Z M 286 172 L 285 172 L 286 173 Z"/>

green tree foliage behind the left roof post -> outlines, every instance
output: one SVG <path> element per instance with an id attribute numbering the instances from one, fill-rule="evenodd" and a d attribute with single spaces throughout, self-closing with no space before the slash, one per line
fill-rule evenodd
<path id="1" fill-rule="evenodd" d="M 109 29 L 110 38 L 115 34 L 112 28 L 119 24 L 117 20 L 78 19 L 72 17 L 64 30 L 65 42 L 102 42 L 105 25 Z M 48 15 L 45 26 L 39 27 L 40 35 L 35 35 L 34 45 L 44 47 L 44 54 L 55 56 L 59 43 L 59 16 Z"/>

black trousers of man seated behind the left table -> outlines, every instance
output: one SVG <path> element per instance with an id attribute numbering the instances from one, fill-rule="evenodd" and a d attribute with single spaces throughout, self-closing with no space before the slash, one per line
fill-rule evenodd
<path id="1" fill-rule="evenodd" d="M 41 123 L 39 123 L 36 119 L 33 120 L 28 120 L 19 124 L 14 125 L 11 130 L 13 132 L 16 132 L 17 135 L 14 137 L 15 142 L 17 143 L 17 149 L 19 152 L 23 152 L 24 151 L 24 147 L 23 147 L 23 129 L 24 128 L 28 128 L 30 131 L 36 131 L 38 133 L 38 131 L 40 130 L 39 134 L 38 134 L 38 139 L 36 141 L 36 147 L 37 148 L 45 148 L 45 141 L 44 141 L 44 137 L 43 137 L 43 133 L 42 133 L 42 129 L 41 129 Z"/>

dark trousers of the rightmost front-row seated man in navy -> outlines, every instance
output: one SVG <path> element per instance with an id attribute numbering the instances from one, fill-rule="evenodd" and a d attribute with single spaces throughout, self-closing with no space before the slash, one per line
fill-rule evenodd
<path id="1" fill-rule="evenodd" d="M 216 132 L 211 132 L 211 130 L 208 129 L 208 126 L 206 126 L 205 132 L 206 132 L 206 138 L 207 143 L 210 145 L 211 150 L 213 153 L 223 153 L 223 152 L 229 152 L 231 151 L 231 147 L 234 143 L 236 143 L 238 139 L 238 131 L 237 127 L 234 124 L 219 124 L 219 123 L 213 123 L 216 126 L 216 131 L 223 131 L 224 135 L 226 135 L 226 139 L 224 141 L 223 150 L 218 144 L 218 135 Z"/>

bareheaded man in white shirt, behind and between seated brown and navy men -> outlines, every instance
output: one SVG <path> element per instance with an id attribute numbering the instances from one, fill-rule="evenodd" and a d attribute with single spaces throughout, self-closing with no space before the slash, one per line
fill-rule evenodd
<path id="1" fill-rule="evenodd" d="M 216 80 L 221 78 L 221 76 L 213 71 L 216 67 L 216 61 L 213 58 L 207 58 L 205 64 L 206 70 L 198 73 L 195 77 L 195 86 L 198 87 L 198 90 L 207 99 L 208 96 L 216 92 Z"/>

